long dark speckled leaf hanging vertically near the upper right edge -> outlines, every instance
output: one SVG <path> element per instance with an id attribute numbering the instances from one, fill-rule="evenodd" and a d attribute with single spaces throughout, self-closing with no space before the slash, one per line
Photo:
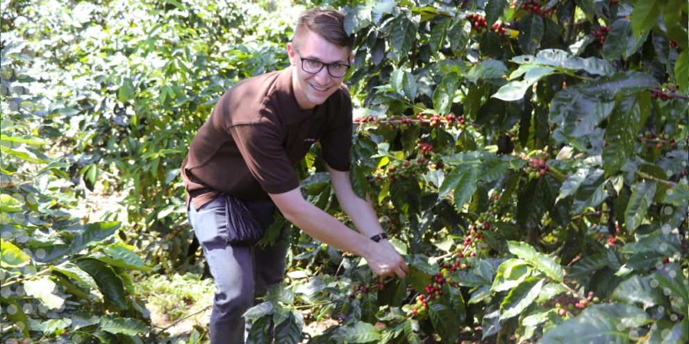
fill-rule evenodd
<path id="1" fill-rule="evenodd" d="M 620 171 L 622 165 L 633 156 L 640 111 L 636 97 L 627 97 L 620 101 L 608 119 L 605 132 L 608 145 L 603 148 L 603 167 L 606 175 Z"/>

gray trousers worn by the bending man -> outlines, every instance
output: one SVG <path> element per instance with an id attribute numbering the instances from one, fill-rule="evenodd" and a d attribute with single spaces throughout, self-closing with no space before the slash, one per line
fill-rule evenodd
<path id="1" fill-rule="evenodd" d="M 227 245 L 228 228 L 225 198 L 206 203 L 197 212 L 192 204 L 189 223 L 194 227 L 210 273 L 215 281 L 215 300 L 210 315 L 211 344 L 244 343 L 244 311 L 254 305 L 254 297 L 285 275 L 287 246 L 283 239 L 266 248 Z M 265 229 L 273 222 L 274 203 L 270 200 L 244 201 Z"/>

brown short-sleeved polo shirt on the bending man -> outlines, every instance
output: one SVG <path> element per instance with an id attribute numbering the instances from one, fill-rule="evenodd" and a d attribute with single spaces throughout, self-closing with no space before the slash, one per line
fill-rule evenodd
<path id="1" fill-rule="evenodd" d="M 321 105 L 301 110 L 292 67 L 243 80 L 219 98 L 182 162 L 188 202 L 199 209 L 218 193 L 259 200 L 296 189 L 294 164 L 317 141 L 331 168 L 348 171 L 351 130 L 344 85 Z"/>

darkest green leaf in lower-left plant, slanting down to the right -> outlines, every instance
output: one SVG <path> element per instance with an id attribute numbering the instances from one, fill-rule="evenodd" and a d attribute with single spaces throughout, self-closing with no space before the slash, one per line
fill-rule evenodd
<path id="1" fill-rule="evenodd" d="M 86 271 L 98 285 L 99 291 L 106 297 L 106 300 L 113 302 L 117 309 L 127 309 L 128 300 L 126 298 L 126 291 L 122 280 L 117 277 L 117 274 L 103 262 L 97 259 L 80 259 L 74 261 L 81 270 Z"/>

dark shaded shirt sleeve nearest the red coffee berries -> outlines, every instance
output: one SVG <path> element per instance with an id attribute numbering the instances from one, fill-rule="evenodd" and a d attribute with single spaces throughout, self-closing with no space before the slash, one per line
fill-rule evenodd
<path id="1" fill-rule="evenodd" d="M 337 171 L 349 171 L 349 149 L 351 148 L 352 117 L 349 92 L 342 91 L 340 111 L 335 119 L 328 123 L 326 131 L 320 138 L 323 159 Z"/>

